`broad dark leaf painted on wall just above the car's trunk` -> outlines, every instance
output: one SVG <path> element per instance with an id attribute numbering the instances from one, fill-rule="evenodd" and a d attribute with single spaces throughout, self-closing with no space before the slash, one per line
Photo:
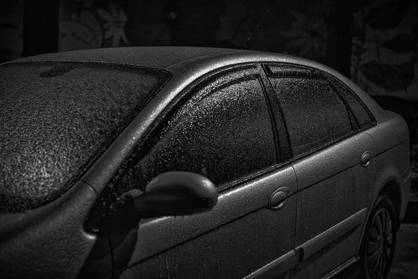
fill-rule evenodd
<path id="1" fill-rule="evenodd" d="M 360 70 L 371 82 L 388 91 L 406 89 L 414 78 L 414 60 L 401 65 L 385 65 L 376 62 L 365 63 Z"/>

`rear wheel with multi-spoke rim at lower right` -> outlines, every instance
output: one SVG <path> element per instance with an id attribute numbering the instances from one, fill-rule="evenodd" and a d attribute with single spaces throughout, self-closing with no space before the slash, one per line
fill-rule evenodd
<path id="1" fill-rule="evenodd" d="M 362 265 L 359 278 L 387 278 L 394 259 L 397 232 L 394 204 L 387 195 L 380 195 L 364 231 L 359 252 Z"/>

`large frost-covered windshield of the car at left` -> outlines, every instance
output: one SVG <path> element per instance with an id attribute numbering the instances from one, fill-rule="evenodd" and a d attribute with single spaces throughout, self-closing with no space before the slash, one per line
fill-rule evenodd
<path id="1" fill-rule="evenodd" d="M 100 63 L 0 67 L 0 210 L 65 193 L 169 75 Z"/>

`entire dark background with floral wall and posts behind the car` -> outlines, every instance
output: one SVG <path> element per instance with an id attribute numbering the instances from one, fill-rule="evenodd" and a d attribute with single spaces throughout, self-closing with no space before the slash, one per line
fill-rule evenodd
<path id="1" fill-rule="evenodd" d="M 408 121 L 416 184 L 418 0 L 6 0 L 0 32 L 0 62 L 98 47 L 185 45 L 325 63 Z"/>

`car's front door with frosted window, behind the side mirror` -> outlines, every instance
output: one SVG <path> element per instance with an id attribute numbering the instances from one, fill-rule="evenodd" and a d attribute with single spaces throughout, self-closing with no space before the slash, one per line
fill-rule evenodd
<path id="1" fill-rule="evenodd" d="M 116 274 L 289 276 L 296 264 L 296 177 L 281 162 L 274 135 L 286 133 L 275 126 L 270 101 L 256 66 L 222 70 L 185 91 L 111 186 L 125 193 L 163 172 L 196 172 L 217 185 L 218 203 L 208 213 L 144 219 L 111 236 Z"/>

